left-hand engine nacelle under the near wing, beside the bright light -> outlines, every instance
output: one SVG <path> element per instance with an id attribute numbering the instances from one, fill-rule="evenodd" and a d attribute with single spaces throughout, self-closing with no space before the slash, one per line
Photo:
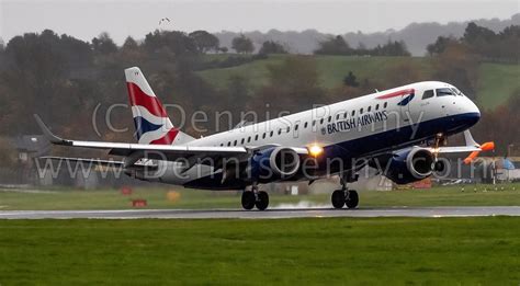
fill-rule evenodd
<path id="1" fill-rule="evenodd" d="M 299 156 L 294 149 L 271 147 L 252 156 L 247 176 L 259 182 L 287 179 L 299 170 Z"/>

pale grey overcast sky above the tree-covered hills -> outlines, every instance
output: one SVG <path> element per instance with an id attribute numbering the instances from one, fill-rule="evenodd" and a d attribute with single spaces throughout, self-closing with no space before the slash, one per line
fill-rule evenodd
<path id="1" fill-rule="evenodd" d="M 520 0 L 344 0 L 344 1 L 24 1 L 0 0 L 0 36 L 50 28 L 90 41 L 101 32 L 123 43 L 156 28 L 210 32 L 303 31 L 342 34 L 403 28 L 411 22 L 509 19 Z M 169 18 L 168 24 L 159 20 Z"/>

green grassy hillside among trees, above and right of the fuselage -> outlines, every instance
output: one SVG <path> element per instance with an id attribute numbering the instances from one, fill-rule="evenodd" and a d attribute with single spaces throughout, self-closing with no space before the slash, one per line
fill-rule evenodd
<path id="1" fill-rule="evenodd" d="M 215 58 L 213 55 L 212 58 Z M 222 55 L 221 55 L 222 56 Z M 222 56 L 224 57 L 224 56 Z M 269 65 L 281 64 L 286 55 L 273 55 L 231 68 L 208 69 L 199 75 L 217 89 L 225 89 L 231 76 L 241 76 L 253 89 L 268 82 Z M 352 57 L 313 56 L 319 72 L 321 88 L 331 89 L 342 84 L 342 79 L 352 71 L 359 80 L 384 77 L 397 65 L 409 64 L 421 70 L 422 78 L 432 78 L 432 65 L 426 57 Z M 378 87 L 374 87 L 377 89 Z M 481 64 L 478 68 L 477 103 L 485 108 L 495 108 L 506 102 L 512 91 L 520 89 L 520 66 L 506 64 Z"/>

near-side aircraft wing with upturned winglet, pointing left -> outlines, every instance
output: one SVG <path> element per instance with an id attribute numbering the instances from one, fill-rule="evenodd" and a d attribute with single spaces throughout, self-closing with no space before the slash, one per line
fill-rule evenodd
<path id="1" fill-rule="evenodd" d="M 174 161 L 181 158 L 199 159 L 204 158 L 233 158 L 241 155 L 250 153 L 251 151 L 263 149 L 269 146 L 258 148 L 247 147 L 213 147 L 213 146 L 177 146 L 177 145 L 148 145 L 148 144 L 127 144 L 127 142 L 103 142 L 103 141 L 81 141 L 63 139 L 54 135 L 44 122 L 34 115 L 39 128 L 45 137 L 54 145 L 82 147 L 90 149 L 105 149 L 110 150 L 110 155 L 114 156 L 131 156 L 137 153 L 137 157 L 146 157 L 147 159 L 169 160 Z M 306 148 L 293 148 L 297 153 L 307 155 Z"/>

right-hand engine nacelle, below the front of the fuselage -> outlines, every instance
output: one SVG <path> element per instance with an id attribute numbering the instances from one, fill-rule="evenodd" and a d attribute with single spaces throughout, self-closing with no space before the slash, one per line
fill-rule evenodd
<path id="1" fill-rule="evenodd" d="M 436 158 L 425 148 L 414 147 L 396 152 L 392 156 L 386 167 L 385 176 L 397 184 L 407 184 L 420 181 L 432 174 Z"/>

